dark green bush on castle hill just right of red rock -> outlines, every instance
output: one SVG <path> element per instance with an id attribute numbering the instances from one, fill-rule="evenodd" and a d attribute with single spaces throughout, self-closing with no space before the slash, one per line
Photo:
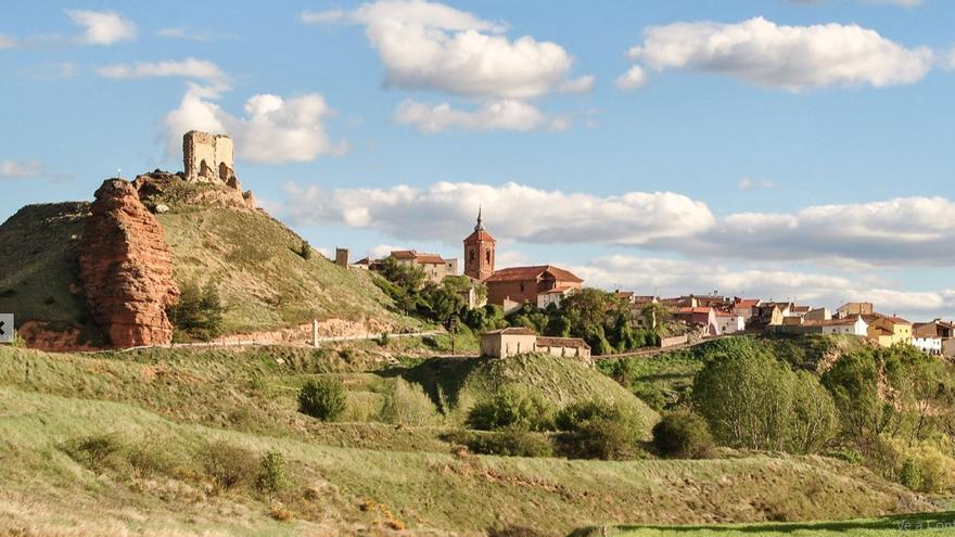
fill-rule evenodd
<path id="1" fill-rule="evenodd" d="M 166 311 L 178 340 L 209 341 L 222 334 L 226 308 L 213 282 L 202 290 L 195 282 L 189 282 L 179 293 L 179 303 Z"/>

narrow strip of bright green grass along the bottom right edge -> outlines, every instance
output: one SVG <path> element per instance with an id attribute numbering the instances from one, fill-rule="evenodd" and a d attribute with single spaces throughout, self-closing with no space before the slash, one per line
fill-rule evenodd
<path id="1" fill-rule="evenodd" d="M 627 532 L 639 532 L 641 529 L 650 529 L 662 535 L 691 535 L 696 532 L 705 533 L 706 535 L 718 535 L 720 533 L 738 533 L 738 534 L 791 534 L 795 532 L 815 533 L 815 532 L 832 532 L 846 533 L 853 529 L 858 530 L 890 530 L 906 533 L 912 530 L 933 530 L 942 528 L 951 528 L 955 533 L 955 511 L 944 511 L 938 513 L 916 513 L 902 514 L 895 516 L 883 516 L 880 519 L 854 520 L 854 521 L 833 521 L 833 522 L 795 522 L 795 523 L 765 523 L 765 524 L 746 524 L 746 525 L 698 525 L 698 526 L 614 526 L 611 535 L 620 535 Z M 599 528 L 582 528 L 571 534 L 571 537 L 589 537 L 601 535 Z"/>

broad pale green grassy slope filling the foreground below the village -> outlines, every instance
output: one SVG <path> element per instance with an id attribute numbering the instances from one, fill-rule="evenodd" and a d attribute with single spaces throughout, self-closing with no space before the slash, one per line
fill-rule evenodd
<path id="1" fill-rule="evenodd" d="M 316 374 L 342 379 L 349 405 L 356 394 L 386 397 L 399 380 L 416 385 L 395 369 L 353 363 L 344 350 L 0 348 L 0 534 L 375 535 L 406 526 L 411 535 L 479 535 L 520 525 L 566 535 L 601 524 L 844 519 L 926 507 L 861 466 L 825 458 L 472 456 L 441 439 L 454 423 L 326 424 L 297 413 L 296 387 Z M 499 367 L 462 369 L 462 393 L 513 380 L 517 369 Z M 550 397 L 580 396 L 563 385 L 568 371 L 520 368 L 558 384 Z M 595 382 L 590 389 L 602 386 L 573 371 Z M 279 491 L 256 485 L 268 451 L 285 461 Z M 224 460 L 245 461 L 230 487 L 220 481 Z"/>

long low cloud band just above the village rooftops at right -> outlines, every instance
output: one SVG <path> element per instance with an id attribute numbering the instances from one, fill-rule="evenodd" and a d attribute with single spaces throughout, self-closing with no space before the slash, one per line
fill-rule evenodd
<path id="1" fill-rule="evenodd" d="M 955 312 L 955 290 L 914 292 L 894 289 L 878 279 L 792 270 L 739 269 L 698 261 L 615 255 L 573 267 L 587 285 L 631 289 L 638 293 L 676 296 L 718 291 L 725 295 L 797 301 L 830 309 L 849 301 L 866 301 L 882 311 L 912 316 Z"/>

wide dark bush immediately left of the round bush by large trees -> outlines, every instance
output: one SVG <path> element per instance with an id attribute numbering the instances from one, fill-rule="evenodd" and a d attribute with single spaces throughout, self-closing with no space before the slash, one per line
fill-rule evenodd
<path id="1" fill-rule="evenodd" d="M 639 415 L 629 408 L 594 400 L 564 407 L 555 420 L 564 433 L 560 451 L 578 459 L 629 459 L 642 432 Z"/>

